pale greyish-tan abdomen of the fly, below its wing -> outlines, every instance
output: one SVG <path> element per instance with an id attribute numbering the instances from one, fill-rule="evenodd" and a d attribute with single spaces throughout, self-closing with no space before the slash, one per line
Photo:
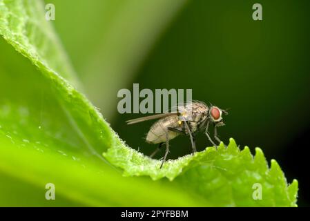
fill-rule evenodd
<path id="1" fill-rule="evenodd" d="M 151 126 L 150 131 L 148 131 L 148 135 L 146 135 L 146 142 L 151 144 L 166 142 L 166 133 L 168 133 L 168 140 L 177 137 L 179 133 L 169 131 L 169 127 L 179 128 L 179 117 L 177 117 L 177 115 L 164 117 L 155 122 L 155 124 Z"/>

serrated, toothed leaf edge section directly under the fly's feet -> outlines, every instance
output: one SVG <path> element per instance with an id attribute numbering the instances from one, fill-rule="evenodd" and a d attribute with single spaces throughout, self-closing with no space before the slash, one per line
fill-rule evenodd
<path id="1" fill-rule="evenodd" d="M 198 194 L 213 206 L 296 206 L 298 183 L 288 185 L 275 160 L 271 169 L 260 148 L 253 157 L 233 139 L 227 148 L 208 147 L 195 155 L 161 162 L 124 145 L 109 148 L 104 157 L 124 170 L 124 175 L 149 175 L 153 180 L 167 177 L 184 190 Z M 255 184 L 262 187 L 262 199 L 254 200 Z"/>

